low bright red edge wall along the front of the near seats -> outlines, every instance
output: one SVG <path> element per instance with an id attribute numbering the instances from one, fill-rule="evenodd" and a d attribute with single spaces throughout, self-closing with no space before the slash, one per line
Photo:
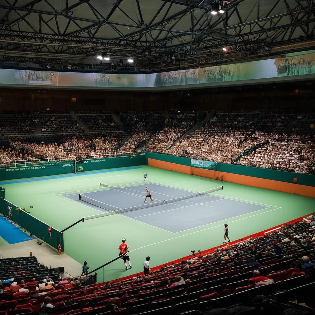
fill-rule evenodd
<path id="1" fill-rule="evenodd" d="M 266 234 L 270 234 L 272 232 L 275 232 L 277 230 L 281 230 L 281 226 L 282 225 L 287 225 L 287 224 L 295 224 L 297 221 L 301 221 L 303 220 L 304 218 L 307 218 L 311 215 L 314 215 L 315 212 L 312 212 L 308 215 L 303 215 L 299 218 L 296 218 L 296 219 L 293 219 L 293 220 L 290 220 L 288 222 L 285 222 L 285 223 L 281 223 L 281 224 L 278 224 L 276 226 L 273 226 L 273 227 L 270 227 L 266 230 L 263 230 L 263 231 L 260 231 L 260 232 L 256 232 L 254 234 L 251 234 L 249 236 L 245 236 L 243 238 L 240 238 L 240 239 L 237 239 L 235 241 L 232 241 L 230 243 L 226 243 L 226 244 L 221 244 L 221 245 L 218 245 L 218 246 L 215 246 L 215 247 L 212 247 L 212 248 L 209 248 L 209 249 L 206 249 L 206 250 L 203 250 L 200 255 L 196 255 L 196 256 L 205 256 L 205 255 L 209 255 L 209 254 L 212 254 L 214 252 L 215 249 L 218 249 L 218 248 L 222 248 L 222 247 L 226 247 L 226 245 L 229 245 L 229 246 L 232 246 L 232 245 L 235 245 L 236 243 L 242 243 L 242 242 L 246 242 L 249 238 L 257 238 L 257 237 L 261 237 L 261 236 L 264 236 Z M 185 256 L 185 257 L 182 257 L 182 258 L 179 258 L 179 259 L 176 259 L 174 261 L 169 261 L 168 263 L 164 263 L 163 265 L 159 265 L 159 266 L 155 266 L 155 267 L 152 267 L 150 268 L 151 272 L 154 272 L 154 271 L 157 271 L 157 270 L 160 270 L 161 267 L 164 267 L 165 265 L 168 265 L 168 266 L 171 266 L 171 264 L 174 262 L 175 264 L 177 263 L 180 263 L 182 261 L 182 259 L 184 260 L 188 260 L 188 259 L 193 259 L 194 256 L 192 254 L 188 255 L 188 256 Z M 130 276 L 126 276 L 126 277 L 123 277 L 123 278 L 118 278 L 118 279 L 113 279 L 113 280 L 109 280 L 109 281 L 106 281 L 106 282 L 112 282 L 112 281 L 125 281 L 125 280 L 128 280 L 128 279 L 132 279 L 134 277 L 136 277 L 137 275 L 144 275 L 144 272 L 138 272 L 138 273 L 135 273 L 133 275 L 130 275 Z M 106 282 L 104 283 L 100 283 L 100 284 L 97 284 L 99 286 L 103 286 Z"/>

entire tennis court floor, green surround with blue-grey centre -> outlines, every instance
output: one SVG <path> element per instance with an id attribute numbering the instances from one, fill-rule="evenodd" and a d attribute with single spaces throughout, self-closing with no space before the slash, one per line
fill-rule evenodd
<path id="1" fill-rule="evenodd" d="M 0 182 L 6 199 L 60 231 L 82 218 L 106 213 L 80 202 L 78 194 L 115 210 L 143 205 L 146 184 L 155 203 L 204 192 L 222 182 L 147 165 Z M 146 256 L 151 257 L 150 266 L 157 266 L 189 255 L 192 249 L 220 245 L 224 223 L 235 240 L 309 214 L 314 204 L 314 198 L 224 182 L 223 190 L 209 195 L 80 222 L 64 232 L 65 253 L 81 264 L 88 261 L 93 270 L 117 257 L 121 239 L 126 238 L 134 269 L 125 270 L 119 259 L 97 272 L 98 281 L 103 282 L 143 271 Z"/>

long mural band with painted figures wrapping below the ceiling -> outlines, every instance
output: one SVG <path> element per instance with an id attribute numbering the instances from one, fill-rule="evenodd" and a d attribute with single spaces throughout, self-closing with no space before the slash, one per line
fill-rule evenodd
<path id="1" fill-rule="evenodd" d="M 249 61 L 225 66 L 154 74 L 74 73 L 0 69 L 0 84 L 41 87 L 153 88 L 237 82 L 314 75 L 315 53 L 301 52 L 288 57 Z"/>

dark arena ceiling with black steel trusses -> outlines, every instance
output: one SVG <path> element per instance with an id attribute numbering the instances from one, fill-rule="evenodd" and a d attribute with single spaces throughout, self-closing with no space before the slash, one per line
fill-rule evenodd
<path id="1" fill-rule="evenodd" d="M 315 47 L 315 0 L 220 2 L 213 15 L 212 0 L 0 0 L 0 58 L 99 64 L 106 51 L 140 71 Z"/>

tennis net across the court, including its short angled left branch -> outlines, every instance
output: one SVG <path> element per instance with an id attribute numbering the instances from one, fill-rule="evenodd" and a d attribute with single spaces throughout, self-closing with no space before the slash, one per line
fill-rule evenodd
<path id="1" fill-rule="evenodd" d="M 84 196 L 83 194 L 79 194 L 79 199 L 86 202 L 86 203 L 90 203 L 96 207 L 99 207 L 101 209 L 105 209 L 108 212 L 105 213 L 100 213 L 98 215 L 91 215 L 88 217 L 85 217 L 84 220 L 90 220 L 90 219 L 95 219 L 95 218 L 100 218 L 103 216 L 107 216 L 107 215 L 113 215 L 113 214 L 122 214 L 122 213 L 126 213 L 126 212 L 130 212 L 130 211 L 135 211 L 135 210 L 140 210 L 140 209 L 145 209 L 145 208 L 151 208 L 151 207 L 156 207 L 156 206 L 161 206 L 167 203 L 176 203 L 182 200 L 186 200 L 186 199 L 190 199 L 190 198 L 195 198 L 195 197 L 199 197 L 202 195 L 207 195 L 209 193 L 212 192 L 216 192 L 218 190 L 222 190 L 223 186 L 220 187 L 216 187 L 216 188 L 212 188 L 203 192 L 196 192 L 194 194 L 191 195 L 187 195 L 187 196 L 182 196 L 179 198 L 174 198 L 174 199 L 169 199 L 169 200 L 163 200 L 163 201 L 157 201 L 157 202 L 150 202 L 150 203 L 145 203 L 139 206 L 134 206 L 134 207 L 129 207 L 129 208 L 117 208 L 114 206 L 111 206 L 109 204 L 103 203 L 101 201 L 95 200 L 93 198 L 89 198 L 87 196 Z"/>

